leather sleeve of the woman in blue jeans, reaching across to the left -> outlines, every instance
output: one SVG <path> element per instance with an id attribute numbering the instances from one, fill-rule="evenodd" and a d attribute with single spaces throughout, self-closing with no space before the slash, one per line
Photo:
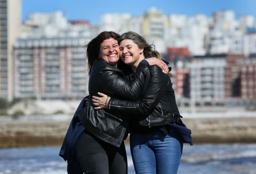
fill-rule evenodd
<path id="1" fill-rule="evenodd" d="M 164 74 L 162 70 L 153 66 L 150 68 L 152 78 L 149 81 L 148 87 L 142 97 L 137 101 L 120 100 L 110 98 L 109 109 L 125 111 L 130 114 L 149 114 L 158 104 L 160 98 L 168 85 L 168 75 Z"/>

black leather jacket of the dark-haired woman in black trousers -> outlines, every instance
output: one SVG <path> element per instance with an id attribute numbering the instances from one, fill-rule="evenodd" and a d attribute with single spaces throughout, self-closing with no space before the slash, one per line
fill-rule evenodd
<path id="1" fill-rule="evenodd" d="M 90 96 L 99 96 L 102 92 L 111 97 L 137 100 L 144 89 L 142 84 L 149 82 L 149 67 L 140 63 L 136 73 L 125 76 L 116 67 L 98 59 L 92 65 L 89 78 Z M 96 137 L 117 147 L 120 146 L 129 124 L 129 116 L 117 110 L 94 110 L 92 104 L 84 104 L 77 112 L 83 126 Z"/>

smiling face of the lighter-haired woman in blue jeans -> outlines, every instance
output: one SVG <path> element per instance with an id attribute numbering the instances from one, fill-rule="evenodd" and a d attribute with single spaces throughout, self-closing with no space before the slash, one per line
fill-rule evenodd
<path id="1" fill-rule="evenodd" d="M 120 45 L 120 58 L 125 64 L 134 65 L 140 61 L 140 56 L 143 49 L 140 49 L 137 44 L 135 44 L 130 39 L 123 40 Z"/>

